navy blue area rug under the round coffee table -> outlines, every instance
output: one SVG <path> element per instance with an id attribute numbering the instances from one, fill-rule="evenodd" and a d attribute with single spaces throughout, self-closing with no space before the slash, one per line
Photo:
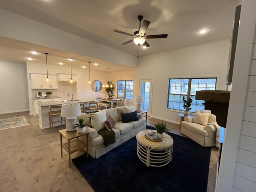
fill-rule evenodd
<path id="1" fill-rule="evenodd" d="M 95 192 L 206 192 L 211 148 L 168 134 L 174 148 L 172 161 L 163 167 L 139 160 L 136 137 L 96 160 L 83 154 L 72 161 Z"/>

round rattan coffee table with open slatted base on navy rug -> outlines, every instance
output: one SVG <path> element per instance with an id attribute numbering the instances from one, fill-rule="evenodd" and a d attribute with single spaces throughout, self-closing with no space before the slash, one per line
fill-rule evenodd
<path id="1" fill-rule="evenodd" d="M 162 167 L 172 161 L 173 140 L 172 137 L 164 133 L 164 139 L 153 141 L 146 138 L 142 130 L 137 133 L 137 155 L 146 166 Z"/>

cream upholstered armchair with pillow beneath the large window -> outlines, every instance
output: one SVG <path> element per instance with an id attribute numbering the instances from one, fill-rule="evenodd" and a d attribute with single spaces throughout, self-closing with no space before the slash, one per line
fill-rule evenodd
<path id="1" fill-rule="evenodd" d="M 216 116 L 207 110 L 196 110 L 196 116 L 185 117 L 181 122 L 180 132 L 197 142 L 203 147 L 218 146 L 216 133 L 220 127 L 216 122 Z"/>

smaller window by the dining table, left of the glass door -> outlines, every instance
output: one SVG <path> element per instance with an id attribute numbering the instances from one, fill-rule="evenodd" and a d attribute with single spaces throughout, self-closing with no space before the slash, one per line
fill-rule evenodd
<path id="1" fill-rule="evenodd" d="M 133 81 L 117 81 L 117 96 L 123 95 L 125 99 L 133 98 Z"/>

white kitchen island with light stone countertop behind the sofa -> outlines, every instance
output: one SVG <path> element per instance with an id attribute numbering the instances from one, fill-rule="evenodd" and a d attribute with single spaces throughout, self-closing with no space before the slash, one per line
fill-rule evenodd
<path id="1" fill-rule="evenodd" d="M 89 99 L 81 99 L 81 100 L 74 100 L 74 103 L 86 103 L 91 100 Z M 49 124 L 49 115 L 48 112 L 50 111 L 50 105 L 62 105 L 63 103 L 72 103 L 72 101 L 49 101 L 49 102 L 40 102 L 38 103 L 38 118 L 39 118 L 39 126 L 41 129 L 50 128 Z M 60 118 L 60 117 L 54 117 Z M 55 120 L 55 119 L 54 119 Z M 54 126 L 61 125 L 61 122 L 54 123 Z"/>

